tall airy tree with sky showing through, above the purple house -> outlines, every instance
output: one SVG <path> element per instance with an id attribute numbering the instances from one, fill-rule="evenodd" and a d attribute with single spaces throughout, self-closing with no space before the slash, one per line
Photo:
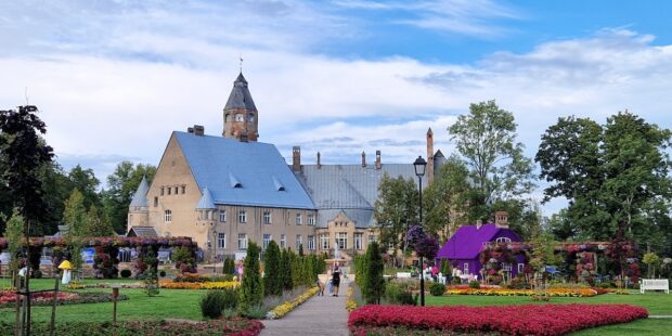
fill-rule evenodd
<path id="1" fill-rule="evenodd" d="M 516 127 L 511 112 L 489 101 L 471 104 L 469 114 L 448 129 L 469 169 L 469 222 L 489 219 L 493 202 L 519 197 L 534 188 L 532 161 L 522 154 L 522 143 L 516 142 Z"/>

